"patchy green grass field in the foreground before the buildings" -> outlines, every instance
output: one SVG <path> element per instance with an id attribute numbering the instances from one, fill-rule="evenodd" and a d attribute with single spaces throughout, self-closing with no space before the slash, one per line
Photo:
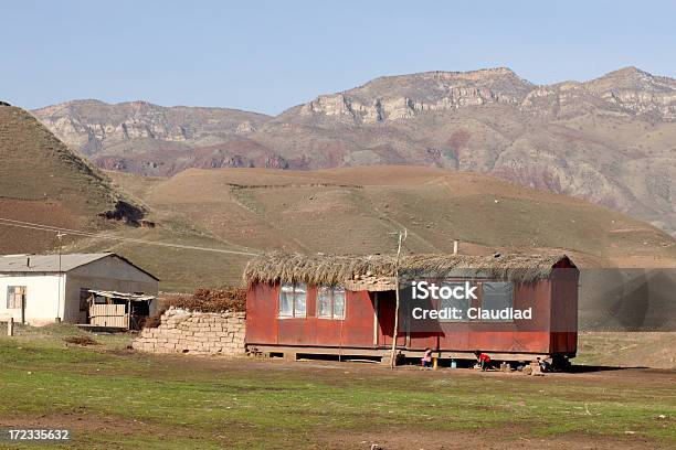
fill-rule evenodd
<path id="1" fill-rule="evenodd" d="M 68 325 L 19 332 L 0 339 L 0 425 L 71 429 L 53 449 L 676 446 L 674 372 L 390 371 L 147 355 L 128 335 L 66 346 L 83 333 Z"/>

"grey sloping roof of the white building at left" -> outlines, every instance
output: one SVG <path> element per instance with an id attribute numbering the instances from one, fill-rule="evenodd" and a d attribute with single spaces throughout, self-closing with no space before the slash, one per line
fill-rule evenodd
<path id="1" fill-rule="evenodd" d="M 61 255 L 61 271 L 66 272 L 112 253 Z M 29 265 L 30 260 L 30 265 Z M 2 255 L 0 274 L 59 272 L 59 255 Z"/>

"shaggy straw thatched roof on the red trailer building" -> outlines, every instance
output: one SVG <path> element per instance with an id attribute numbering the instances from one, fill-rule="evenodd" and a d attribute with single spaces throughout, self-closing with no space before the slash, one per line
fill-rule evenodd
<path id="1" fill-rule="evenodd" d="M 532 282 L 548 278 L 566 255 L 402 255 L 400 274 L 425 277 L 477 277 Z M 394 255 L 335 256 L 271 253 L 249 262 L 249 283 L 344 285 L 350 290 L 393 289 Z M 572 262 L 570 262 L 572 265 Z M 574 267 L 574 266 L 573 266 Z M 368 288 L 368 285 L 372 289 Z"/>

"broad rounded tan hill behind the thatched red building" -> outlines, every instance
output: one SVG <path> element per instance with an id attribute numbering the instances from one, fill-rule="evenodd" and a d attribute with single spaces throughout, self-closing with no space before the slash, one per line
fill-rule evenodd
<path id="1" fill-rule="evenodd" d="M 405 227 L 404 250 L 411 253 L 452 251 L 453 239 L 460 239 L 467 254 L 566 251 L 582 266 L 676 267 L 676 243 L 651 225 L 479 174 L 369 167 L 110 176 L 151 208 L 158 228 L 135 232 L 147 238 L 244 250 L 390 253 L 392 233 Z M 115 248 L 176 289 L 198 280 L 239 283 L 247 260 L 127 244 Z"/>

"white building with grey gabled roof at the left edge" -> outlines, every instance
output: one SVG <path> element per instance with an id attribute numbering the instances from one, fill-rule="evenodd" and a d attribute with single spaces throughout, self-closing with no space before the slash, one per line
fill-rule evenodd
<path id="1" fill-rule="evenodd" d="M 0 256 L 0 317 L 31 325 L 86 323 L 91 290 L 156 296 L 158 281 L 112 253 Z"/>

